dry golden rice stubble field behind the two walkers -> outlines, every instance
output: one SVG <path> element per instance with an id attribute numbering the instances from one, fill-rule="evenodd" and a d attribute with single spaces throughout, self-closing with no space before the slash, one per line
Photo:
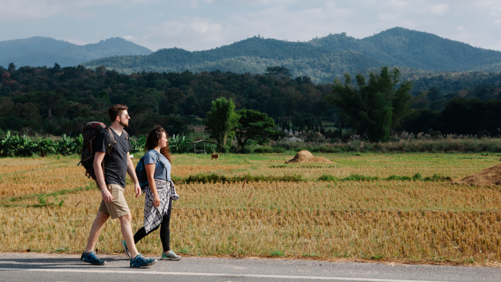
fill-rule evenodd
<path id="1" fill-rule="evenodd" d="M 361 155 L 361 156 L 357 156 Z M 479 154 L 316 154 L 338 165 L 284 165 L 284 154 L 173 156 L 172 175 L 301 175 L 300 182 L 176 183 L 171 246 L 191 255 L 501 261 L 501 188 L 429 181 L 316 181 L 329 174 L 460 179 L 498 163 Z M 135 160 L 137 162 L 137 159 Z M 81 252 L 101 194 L 76 156 L 0 159 L 0 251 Z M 57 199 L 56 199 L 57 198 Z M 144 199 L 128 179 L 133 229 Z M 45 200 L 45 202 L 44 202 Z M 61 201 L 63 204 L 59 205 Z M 160 253 L 155 231 L 137 244 Z M 96 248 L 121 252 L 118 220 Z"/>

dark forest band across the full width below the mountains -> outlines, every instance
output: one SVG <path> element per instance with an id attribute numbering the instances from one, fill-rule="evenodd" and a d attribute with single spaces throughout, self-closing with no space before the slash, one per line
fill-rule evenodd
<path id="1" fill-rule="evenodd" d="M 264 74 L 185 71 L 125 75 L 104 66 L 95 70 L 58 64 L 16 69 L 11 64 L 7 69 L 0 67 L 0 73 L 3 135 L 13 130 L 76 137 L 88 121 L 107 122 L 107 108 L 117 103 L 129 106 L 132 118 L 127 131 L 131 135 L 146 134 L 154 124 L 162 125 L 170 135 L 179 135 L 189 132 L 190 125 L 206 123 L 210 115 L 206 114 L 221 97 L 231 100 L 235 112 L 256 111 L 240 112 L 239 116 L 250 116 L 240 124 L 252 121 L 258 113 L 272 118 L 274 126 L 282 129 L 264 134 L 273 138 L 285 136 L 277 132 L 312 131 L 336 139 L 343 137 L 341 128 L 370 140 L 386 140 L 400 130 L 497 136 L 501 127 L 495 112 L 498 99 L 457 96 L 449 100 L 434 86 L 413 96 L 414 83 L 402 81 L 400 71 L 388 67 L 367 77 L 346 74 L 344 82 L 327 84 L 314 84 L 308 76 L 293 78 L 283 66 L 268 67 Z M 489 77 L 488 83 L 473 89 L 493 87 L 493 93 L 497 91 L 499 86 L 492 83 L 498 77 Z M 334 121 L 338 129 L 323 128 L 325 120 Z M 232 131 L 239 138 L 239 131 Z M 241 148 L 243 140 L 242 135 Z"/>

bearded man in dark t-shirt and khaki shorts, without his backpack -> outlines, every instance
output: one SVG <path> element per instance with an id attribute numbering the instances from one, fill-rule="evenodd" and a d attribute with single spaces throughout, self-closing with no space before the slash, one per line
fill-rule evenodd
<path id="1" fill-rule="evenodd" d="M 132 216 L 123 195 L 126 172 L 129 173 L 130 178 L 134 182 L 136 198 L 141 194 L 134 165 L 129 158 L 129 152 L 132 147 L 127 132 L 123 130 L 124 127 L 129 125 L 130 116 L 127 111 L 128 108 L 126 105 L 118 104 L 111 106 L 108 109 L 108 114 L 111 118 L 109 129 L 111 130 L 103 129 L 96 140 L 94 171 L 103 199 L 101 200 L 101 206 L 97 212 L 96 219 L 92 224 L 87 247 L 81 257 L 82 261 L 94 265 L 104 265 L 106 263 L 106 261 L 99 259 L 93 250 L 104 223 L 110 216 L 111 219 L 118 218 L 120 220 L 122 236 L 131 254 L 130 267 L 144 267 L 157 262 L 155 258 L 147 259 L 137 251 L 132 234 Z M 113 136 L 110 134 L 113 134 Z M 113 142 L 110 142 L 110 140 L 113 140 Z"/>

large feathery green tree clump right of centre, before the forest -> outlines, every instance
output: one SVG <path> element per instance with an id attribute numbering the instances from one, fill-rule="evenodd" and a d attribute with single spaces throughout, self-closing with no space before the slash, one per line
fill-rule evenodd
<path id="1" fill-rule="evenodd" d="M 342 115 L 354 126 L 357 134 L 373 141 L 387 141 L 391 131 L 400 127 L 402 118 L 411 113 L 412 82 L 399 83 L 400 70 L 381 67 L 379 74 L 371 72 L 369 80 L 356 76 L 357 87 L 351 84 L 351 76 L 344 74 L 344 84 L 334 81 L 332 95 L 325 99 L 339 107 Z"/>

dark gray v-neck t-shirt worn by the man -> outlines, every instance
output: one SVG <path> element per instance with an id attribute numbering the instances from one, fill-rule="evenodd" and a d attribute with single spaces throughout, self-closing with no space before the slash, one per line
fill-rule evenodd
<path id="1" fill-rule="evenodd" d="M 110 155 L 104 157 L 104 181 L 106 185 L 117 184 L 125 188 L 125 177 L 127 175 L 127 152 L 132 150 L 130 140 L 127 140 L 125 133 L 119 136 L 115 130 L 111 129 L 115 141 L 117 142 Z M 107 130 L 101 130 L 96 140 L 96 152 L 106 152 L 110 144 L 110 133 Z"/>

